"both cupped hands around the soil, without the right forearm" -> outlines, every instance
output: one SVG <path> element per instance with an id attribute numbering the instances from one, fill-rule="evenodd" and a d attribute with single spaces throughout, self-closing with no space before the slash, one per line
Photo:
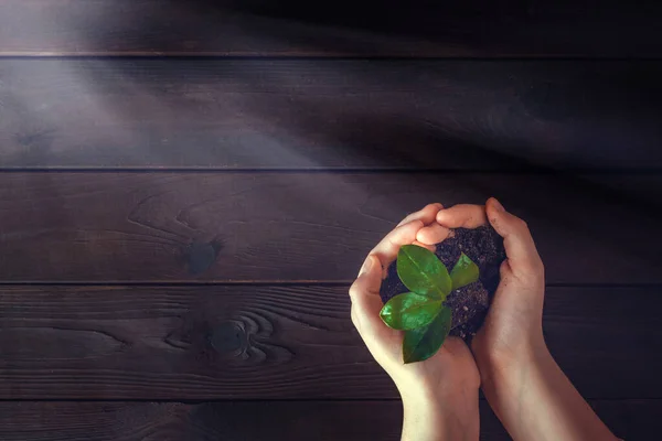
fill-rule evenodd
<path id="1" fill-rule="evenodd" d="M 387 327 L 380 319 L 380 287 L 386 269 L 403 245 L 434 250 L 448 237 L 450 228 L 476 228 L 487 223 L 503 237 L 508 258 L 501 266 L 501 282 L 485 323 L 471 349 L 462 340 L 448 337 L 433 357 L 405 365 L 402 332 Z M 430 204 L 408 215 L 370 252 L 350 297 L 356 330 L 403 398 L 404 439 L 478 439 L 481 379 L 491 381 L 504 372 L 523 369 L 546 351 L 542 331 L 543 262 L 526 224 L 494 198 L 484 207 L 444 208 L 441 204 Z M 433 433 L 435 430 L 444 433 Z"/>

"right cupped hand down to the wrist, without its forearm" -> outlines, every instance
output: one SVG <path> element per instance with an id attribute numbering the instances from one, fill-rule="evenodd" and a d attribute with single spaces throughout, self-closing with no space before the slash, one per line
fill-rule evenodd
<path id="1" fill-rule="evenodd" d="M 437 223 L 446 228 L 476 228 L 488 222 L 503 237 L 506 260 L 485 322 L 471 345 L 483 378 L 516 370 L 547 352 L 542 325 L 545 271 L 526 223 L 495 198 L 484 207 L 462 204 L 437 214 Z M 417 240 L 434 244 L 438 230 L 437 226 L 424 227 Z"/>

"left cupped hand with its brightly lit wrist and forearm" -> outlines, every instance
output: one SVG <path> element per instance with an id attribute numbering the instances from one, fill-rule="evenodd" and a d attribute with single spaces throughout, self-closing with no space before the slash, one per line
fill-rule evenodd
<path id="1" fill-rule="evenodd" d="M 471 352 L 460 338 L 448 337 L 430 358 L 403 363 L 403 332 L 380 318 L 380 288 L 388 266 L 403 245 L 434 249 L 416 240 L 418 232 L 435 224 L 440 204 L 427 205 L 407 216 L 369 254 L 350 288 L 352 321 L 375 361 L 395 383 L 405 409 L 403 440 L 478 439 L 480 376 Z M 442 228 L 435 227 L 442 238 Z M 448 230 L 447 230 L 448 233 Z"/>

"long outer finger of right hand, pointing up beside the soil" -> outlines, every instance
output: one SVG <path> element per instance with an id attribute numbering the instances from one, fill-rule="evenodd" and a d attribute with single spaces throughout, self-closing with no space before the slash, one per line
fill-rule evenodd
<path id="1" fill-rule="evenodd" d="M 515 275 L 542 270 L 543 262 L 526 223 L 506 212 L 493 197 L 487 203 L 487 214 L 492 227 L 503 237 L 510 269 Z"/>

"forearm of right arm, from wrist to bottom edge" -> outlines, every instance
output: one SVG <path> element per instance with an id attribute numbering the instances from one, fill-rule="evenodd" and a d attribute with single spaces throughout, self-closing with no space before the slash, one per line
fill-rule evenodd
<path id="1" fill-rule="evenodd" d="M 492 369 L 483 391 L 515 441 L 617 440 L 546 347 L 521 366 Z"/>

